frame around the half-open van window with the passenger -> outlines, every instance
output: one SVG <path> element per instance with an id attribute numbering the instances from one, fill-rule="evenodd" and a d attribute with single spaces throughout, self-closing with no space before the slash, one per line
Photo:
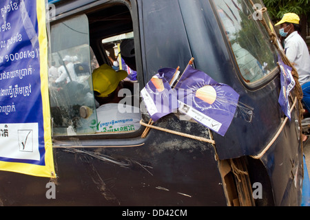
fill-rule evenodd
<path id="1" fill-rule="evenodd" d="M 90 3 L 89 5 L 83 5 L 79 8 L 74 8 L 73 10 L 68 10 L 68 12 L 65 12 L 63 14 L 58 14 L 56 17 L 52 19 L 50 22 L 50 26 L 60 23 L 62 21 L 71 19 L 75 17 L 76 15 L 80 14 L 87 14 L 89 12 L 94 11 L 101 11 L 103 8 L 109 8 L 112 5 L 125 5 L 127 6 L 128 11 L 131 14 L 132 19 L 132 25 L 133 25 L 133 32 L 135 34 L 134 41 L 135 41 L 135 47 L 136 47 L 136 63 L 141 63 L 141 47 L 139 44 L 139 29 L 138 29 L 138 16 L 137 16 L 137 10 L 136 10 L 136 3 L 135 1 L 127 1 L 127 0 L 116 0 L 116 1 L 107 1 L 107 0 L 101 0 L 96 1 L 94 3 Z M 134 6 L 134 7 L 132 7 Z M 65 8 L 67 8 L 68 5 L 65 5 Z M 73 7 L 73 6 L 72 6 Z M 103 37 L 105 38 L 105 37 Z M 99 47 L 101 47 L 99 45 Z M 102 49 L 102 47 L 101 47 Z M 102 54 L 101 54 L 102 55 Z M 104 59 L 104 57 L 103 57 Z M 141 65 L 137 65 L 137 72 L 141 72 Z M 143 85 L 143 74 L 140 74 L 138 76 L 138 85 L 139 85 L 139 91 L 142 89 L 141 85 Z M 141 117 L 143 115 L 141 114 Z M 143 144 L 143 141 L 141 141 L 141 134 L 143 133 L 145 127 L 140 126 L 140 129 L 131 132 L 131 133 L 94 133 L 94 134 L 81 134 L 81 135 L 52 135 L 53 140 L 53 146 L 75 146 L 78 142 L 76 140 L 90 140 L 90 142 L 87 142 L 87 146 L 98 146 L 98 145 L 105 145 L 105 146 L 137 146 Z M 131 140 L 129 140 L 131 139 Z M 65 142 L 65 141 L 68 142 Z M 72 141 L 73 140 L 73 141 Z M 94 141 L 92 141 L 94 140 Z M 101 142 L 101 140 L 109 140 L 108 142 Z M 115 144 L 117 142 L 117 144 Z M 100 143 L 100 144 L 99 144 Z M 80 143 L 82 144 L 82 143 Z M 79 145 L 79 144 L 78 144 Z M 84 145 L 84 144 L 82 144 Z"/>

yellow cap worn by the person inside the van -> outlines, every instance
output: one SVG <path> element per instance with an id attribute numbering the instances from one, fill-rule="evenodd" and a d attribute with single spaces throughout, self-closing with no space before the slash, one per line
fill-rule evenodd
<path id="1" fill-rule="evenodd" d="M 103 64 L 92 73 L 94 91 L 100 94 L 98 97 L 107 97 L 127 76 L 128 74 L 124 70 L 116 72 L 109 65 Z"/>

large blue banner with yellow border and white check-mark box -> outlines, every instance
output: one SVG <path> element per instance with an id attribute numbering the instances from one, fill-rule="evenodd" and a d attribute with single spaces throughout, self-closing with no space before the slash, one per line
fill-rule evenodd
<path id="1" fill-rule="evenodd" d="M 1 1 L 0 170 L 56 177 L 45 0 Z"/>

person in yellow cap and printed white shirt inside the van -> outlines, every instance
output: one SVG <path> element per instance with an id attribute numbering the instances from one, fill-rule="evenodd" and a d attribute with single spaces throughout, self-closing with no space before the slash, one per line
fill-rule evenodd
<path id="1" fill-rule="evenodd" d="M 121 104 L 124 97 L 118 96 L 121 89 L 127 89 L 128 85 L 133 87 L 133 83 L 123 81 L 127 75 L 123 70 L 116 72 L 107 64 L 92 73 L 94 96 L 100 105 L 96 109 L 97 132 L 136 131 L 140 127 L 140 109 Z"/>

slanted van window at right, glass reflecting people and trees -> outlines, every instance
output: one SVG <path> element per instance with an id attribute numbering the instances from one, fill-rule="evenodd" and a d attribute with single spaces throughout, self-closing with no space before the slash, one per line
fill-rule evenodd
<path id="1" fill-rule="evenodd" d="M 256 2 L 254 1 L 254 4 Z M 253 17 L 249 1 L 231 0 L 214 3 L 218 17 L 234 52 L 243 80 L 254 83 L 277 67 L 276 51 L 259 17 Z"/>

